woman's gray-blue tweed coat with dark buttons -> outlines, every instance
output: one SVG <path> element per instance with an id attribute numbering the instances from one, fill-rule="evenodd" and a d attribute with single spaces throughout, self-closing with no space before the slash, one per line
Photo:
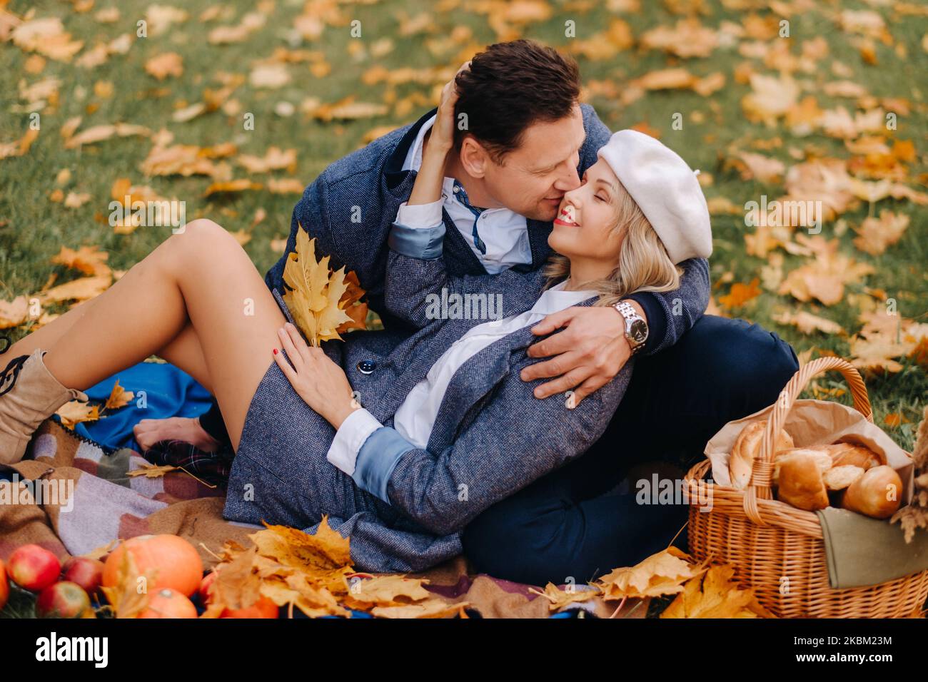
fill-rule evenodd
<path id="1" fill-rule="evenodd" d="M 426 292 L 446 286 L 460 294 L 486 290 L 483 277 L 436 277 L 437 261 L 390 255 L 387 303 L 396 314 L 425 322 L 398 345 L 383 332 L 354 332 L 327 341 L 359 400 L 384 426 L 445 350 L 479 319 L 425 320 Z M 402 275 L 400 274 L 402 272 Z M 532 307 L 544 278 L 507 276 L 499 286 L 503 315 Z M 278 302 L 283 305 L 283 302 Z M 595 299 L 582 303 L 589 305 Z M 284 306 L 286 312 L 286 306 Z M 593 444 L 622 399 L 632 364 L 609 384 L 567 409 L 563 395 L 538 400 L 541 380 L 522 381 L 530 328 L 497 340 L 458 369 L 448 386 L 426 449 L 409 444 L 396 460 L 385 496 L 329 463 L 335 430 L 290 386 L 272 363 L 258 386 L 232 462 L 224 516 L 231 521 L 283 523 L 315 533 L 323 515 L 351 536 L 351 555 L 363 570 L 419 571 L 461 552 L 460 532 L 483 509 L 512 495 Z M 366 370 L 360 371 L 359 365 Z M 373 438 L 373 436 L 372 436 Z M 399 455 L 399 453 L 397 453 Z M 383 454 L 387 456 L 386 453 Z M 367 486 L 369 487 L 369 486 Z"/>

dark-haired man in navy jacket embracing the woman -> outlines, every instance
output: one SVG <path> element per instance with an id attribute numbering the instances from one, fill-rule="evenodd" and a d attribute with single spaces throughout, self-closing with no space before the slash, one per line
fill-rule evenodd
<path id="1" fill-rule="evenodd" d="M 441 214 L 452 274 L 531 272 L 548 259 L 561 198 L 579 186 L 611 133 L 591 107 L 578 103 L 575 62 L 542 45 L 491 45 L 458 71 L 455 83 L 459 124 L 445 168 L 449 191 L 436 204 L 406 209 Z M 268 287 L 284 290 L 287 253 L 302 228 L 333 267 L 357 273 L 383 321 L 380 333 L 396 342 L 411 335 L 384 308 L 387 236 L 409 199 L 434 120 L 432 109 L 335 161 L 306 188 L 293 211 L 287 251 L 265 276 Z M 724 423 L 772 403 L 795 371 L 792 349 L 775 335 L 702 316 L 708 264 L 691 259 L 681 265 L 677 291 L 636 293 L 616 308 L 575 307 L 536 326 L 539 337 L 550 336 L 529 354 L 548 359 L 522 379 L 549 379 L 535 389 L 539 399 L 582 401 L 612 380 L 631 354 L 640 357 L 629 392 L 596 447 L 471 522 L 462 542 L 478 571 L 542 585 L 570 576 L 586 580 L 614 568 L 610 547 L 617 542 L 665 547 L 685 509 L 655 509 L 654 528 L 622 529 L 617 520 L 629 498 L 608 493 L 638 461 L 698 455 Z M 357 370 L 376 367 L 359 364 Z M 653 423 L 661 414 L 675 415 L 676 423 Z M 136 437 L 143 446 L 180 438 L 214 447 L 222 439 L 217 416 L 217 409 L 204 415 L 203 429 L 193 420 L 172 420 L 183 433 L 167 422 L 143 422 Z M 616 461 L 617 448 L 631 456 Z"/>

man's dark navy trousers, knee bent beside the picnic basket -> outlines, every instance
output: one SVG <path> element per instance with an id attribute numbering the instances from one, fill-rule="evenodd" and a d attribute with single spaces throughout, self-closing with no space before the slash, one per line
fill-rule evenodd
<path id="1" fill-rule="evenodd" d="M 664 549 L 688 507 L 638 504 L 628 470 L 659 460 L 685 472 L 728 421 L 772 405 L 798 368 L 776 334 L 703 315 L 673 347 L 636 359 L 608 430 L 583 456 L 470 522 L 471 565 L 518 583 L 584 584 Z M 686 548 L 685 528 L 674 545 Z"/>

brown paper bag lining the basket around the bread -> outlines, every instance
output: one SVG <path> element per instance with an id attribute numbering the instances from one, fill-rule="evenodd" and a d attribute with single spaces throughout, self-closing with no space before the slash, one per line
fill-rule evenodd
<path id="1" fill-rule="evenodd" d="M 728 475 L 728 458 L 738 435 L 749 422 L 766 419 L 774 405 L 765 407 L 737 421 L 729 421 L 705 446 L 705 454 L 712 461 L 712 479 L 717 485 L 731 487 Z M 824 400 L 797 400 L 783 423 L 783 430 L 793 437 L 796 447 L 853 443 L 866 445 L 886 457 L 886 464 L 896 470 L 902 479 L 902 501 L 909 504 L 914 487 L 915 465 L 905 450 L 892 438 L 853 407 Z"/>

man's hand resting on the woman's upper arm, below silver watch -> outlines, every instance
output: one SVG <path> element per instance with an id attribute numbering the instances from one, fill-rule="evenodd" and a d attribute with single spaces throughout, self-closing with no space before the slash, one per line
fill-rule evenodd
<path id="1" fill-rule="evenodd" d="M 644 317 L 637 302 L 629 301 Z M 536 398 L 574 390 L 574 406 L 592 392 L 609 383 L 625 367 L 631 348 L 625 339 L 625 319 L 612 306 L 574 306 L 552 313 L 532 328 L 545 336 L 563 328 L 528 348 L 529 357 L 549 357 L 522 369 L 522 380 L 557 377 L 535 387 Z"/>

